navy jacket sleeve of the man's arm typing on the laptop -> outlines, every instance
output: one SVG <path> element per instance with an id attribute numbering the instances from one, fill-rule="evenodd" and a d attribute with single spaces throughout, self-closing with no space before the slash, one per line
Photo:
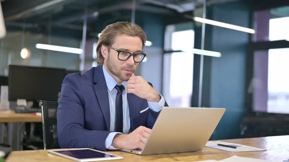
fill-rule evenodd
<path id="1" fill-rule="evenodd" d="M 105 151 L 105 140 L 110 131 L 84 128 L 84 108 L 79 75 L 68 75 L 61 89 L 57 109 L 58 143 L 61 148 L 96 148 Z"/>

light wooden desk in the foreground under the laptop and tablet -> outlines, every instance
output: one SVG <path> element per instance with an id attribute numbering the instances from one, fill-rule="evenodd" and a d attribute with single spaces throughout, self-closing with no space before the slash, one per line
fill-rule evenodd
<path id="1" fill-rule="evenodd" d="M 115 160 L 108 162 L 193 162 L 202 160 L 222 160 L 233 155 L 241 157 L 251 157 L 263 160 L 271 160 L 273 162 L 283 162 L 289 159 L 289 136 L 274 136 L 263 138 L 248 138 L 235 140 L 221 140 L 225 142 L 234 142 L 265 148 L 267 151 L 256 152 L 239 152 L 230 153 L 205 147 L 202 151 L 176 153 L 176 154 L 160 154 L 140 156 L 121 151 L 111 151 L 110 153 L 124 157 L 123 160 Z M 46 150 L 34 151 L 13 151 L 6 162 L 73 162 L 71 160 L 48 154 Z"/>

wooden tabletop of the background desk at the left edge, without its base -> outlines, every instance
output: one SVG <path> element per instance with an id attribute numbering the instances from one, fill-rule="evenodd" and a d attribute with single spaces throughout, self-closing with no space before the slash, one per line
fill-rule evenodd
<path id="1" fill-rule="evenodd" d="M 0 111 L 0 122 L 41 122 L 41 116 L 31 113 L 15 113 L 14 111 Z"/>

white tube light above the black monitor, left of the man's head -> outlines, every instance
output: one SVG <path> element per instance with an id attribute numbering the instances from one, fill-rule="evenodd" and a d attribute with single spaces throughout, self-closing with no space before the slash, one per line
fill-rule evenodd
<path id="1" fill-rule="evenodd" d="M 38 49 L 82 54 L 82 49 L 80 48 L 71 48 L 71 47 L 63 47 L 63 46 L 58 46 L 58 45 L 49 45 L 49 44 L 40 44 L 40 43 L 37 43 L 35 47 Z"/>

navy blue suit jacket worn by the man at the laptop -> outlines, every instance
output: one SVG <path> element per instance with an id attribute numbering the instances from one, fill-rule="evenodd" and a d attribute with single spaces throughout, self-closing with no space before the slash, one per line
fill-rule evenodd
<path id="1" fill-rule="evenodd" d="M 148 109 L 140 113 L 148 104 L 145 99 L 134 94 L 127 94 L 127 101 L 130 131 L 141 125 L 152 128 L 159 112 Z M 58 104 L 57 132 L 60 147 L 106 150 L 105 140 L 110 133 L 110 108 L 101 65 L 83 74 L 68 75 L 62 83 Z"/>

